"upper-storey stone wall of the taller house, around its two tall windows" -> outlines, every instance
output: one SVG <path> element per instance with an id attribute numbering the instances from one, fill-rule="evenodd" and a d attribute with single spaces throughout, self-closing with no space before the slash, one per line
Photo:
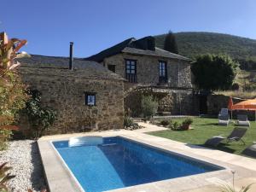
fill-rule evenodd
<path id="1" fill-rule="evenodd" d="M 159 61 L 166 61 L 169 87 L 191 88 L 189 61 L 179 61 L 151 55 L 121 53 L 105 58 L 105 67 L 115 65 L 115 72 L 125 78 L 125 59 L 137 60 L 137 83 L 159 84 Z"/>

